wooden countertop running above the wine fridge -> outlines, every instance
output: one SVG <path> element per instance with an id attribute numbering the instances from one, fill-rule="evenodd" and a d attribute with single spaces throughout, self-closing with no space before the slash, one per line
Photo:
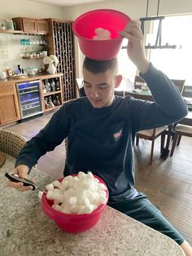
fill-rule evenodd
<path id="1" fill-rule="evenodd" d="M 63 73 L 55 73 L 55 74 L 49 74 L 49 73 L 37 73 L 35 75 L 28 75 L 28 77 L 24 78 L 9 78 L 7 79 L 0 79 L 0 86 L 1 84 L 13 84 L 16 82 L 26 82 L 26 81 L 32 81 L 32 80 L 38 80 L 38 79 L 49 79 L 52 77 L 61 77 L 63 76 Z"/>

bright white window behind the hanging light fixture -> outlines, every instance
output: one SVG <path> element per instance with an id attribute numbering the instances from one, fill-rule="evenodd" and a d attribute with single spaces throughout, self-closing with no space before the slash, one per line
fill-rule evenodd
<path id="1" fill-rule="evenodd" d="M 155 20 L 153 31 L 157 29 L 158 23 Z M 161 44 L 168 42 L 169 45 L 177 45 L 177 49 L 152 49 L 150 60 L 169 78 L 185 79 L 185 85 L 192 86 L 192 15 L 165 17 L 162 26 Z"/>

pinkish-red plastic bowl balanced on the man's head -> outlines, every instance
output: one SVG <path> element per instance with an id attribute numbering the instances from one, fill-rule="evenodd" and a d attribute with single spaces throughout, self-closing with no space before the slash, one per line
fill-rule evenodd
<path id="1" fill-rule="evenodd" d="M 120 51 L 123 38 L 119 33 L 131 19 L 123 12 L 98 9 L 80 15 L 72 23 L 72 31 L 78 38 L 82 53 L 92 60 L 111 60 Z M 111 39 L 94 40 L 95 29 L 103 28 L 111 32 Z"/>

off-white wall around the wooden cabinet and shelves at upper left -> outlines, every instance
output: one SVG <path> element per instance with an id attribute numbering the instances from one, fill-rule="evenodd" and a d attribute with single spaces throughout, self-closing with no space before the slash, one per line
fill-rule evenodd
<path id="1" fill-rule="evenodd" d="M 37 2 L 29 2 L 27 0 L 0 0 L 0 20 L 9 20 L 14 17 L 63 19 L 63 9 Z M 18 64 L 21 64 L 22 68 L 41 67 L 42 60 L 23 60 L 20 57 L 24 48 L 26 48 L 26 46 L 20 46 L 21 37 L 21 35 L 0 33 L 0 42 L 6 41 L 8 51 L 8 58 L 0 58 L 0 71 L 7 68 L 13 69 Z M 37 50 L 37 47 L 34 46 L 33 50 Z M 31 51 L 31 49 L 29 49 L 29 51 Z"/>

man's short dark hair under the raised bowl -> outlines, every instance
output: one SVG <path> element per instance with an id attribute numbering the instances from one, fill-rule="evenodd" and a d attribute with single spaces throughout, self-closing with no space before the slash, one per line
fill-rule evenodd
<path id="1" fill-rule="evenodd" d="M 88 70 L 91 73 L 104 73 L 107 70 L 116 70 L 118 63 L 117 58 L 111 59 L 111 60 L 91 60 L 88 57 L 85 57 L 85 60 L 83 62 L 83 68 Z"/>

